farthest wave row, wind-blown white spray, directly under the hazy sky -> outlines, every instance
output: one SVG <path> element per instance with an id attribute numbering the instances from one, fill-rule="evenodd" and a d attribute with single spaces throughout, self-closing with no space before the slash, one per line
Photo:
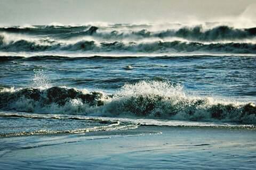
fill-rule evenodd
<path id="1" fill-rule="evenodd" d="M 183 26 L 180 28 L 166 27 L 165 30 L 151 30 L 148 26 L 116 25 L 109 27 L 95 26 L 33 26 L 0 28 L 1 32 L 31 35 L 56 35 L 59 38 L 71 38 L 82 35 L 91 35 L 102 38 L 127 38 L 127 37 L 180 37 L 191 41 L 217 41 L 223 39 L 243 39 L 256 36 L 256 27 L 234 28 L 230 26 L 215 26 L 204 28 L 199 26 Z M 161 28 L 161 27 L 160 27 Z M 99 31 L 97 31 L 99 29 Z"/>

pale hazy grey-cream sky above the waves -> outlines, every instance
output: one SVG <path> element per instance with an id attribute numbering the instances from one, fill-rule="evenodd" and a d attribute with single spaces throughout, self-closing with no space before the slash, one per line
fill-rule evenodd
<path id="1" fill-rule="evenodd" d="M 218 21 L 256 16 L 255 0 L 0 0 L 1 25 Z"/>

